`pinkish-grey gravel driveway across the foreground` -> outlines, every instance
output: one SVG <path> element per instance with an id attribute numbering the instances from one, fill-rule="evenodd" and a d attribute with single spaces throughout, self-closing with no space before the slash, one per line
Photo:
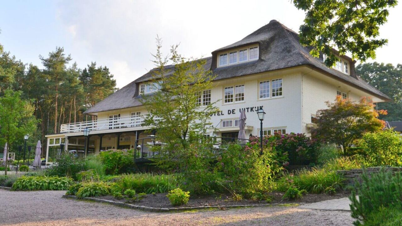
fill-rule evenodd
<path id="1" fill-rule="evenodd" d="M 258 207 L 186 213 L 150 213 L 63 199 L 65 191 L 0 189 L 0 225 L 352 225 L 350 212 Z"/>

